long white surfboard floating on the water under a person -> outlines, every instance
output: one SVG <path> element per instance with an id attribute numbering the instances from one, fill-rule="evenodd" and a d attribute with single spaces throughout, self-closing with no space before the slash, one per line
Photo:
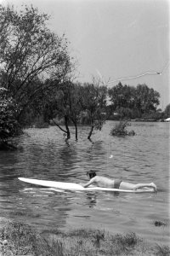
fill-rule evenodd
<path id="1" fill-rule="evenodd" d="M 42 187 L 54 188 L 54 189 L 63 189 L 63 190 L 73 190 L 73 191 L 111 191 L 111 192 L 127 192 L 127 193 L 152 193 L 154 189 L 138 189 L 138 190 L 126 190 L 126 189 L 108 189 L 108 188 L 100 188 L 100 187 L 93 187 L 89 186 L 88 188 L 83 188 L 82 185 L 78 183 L 62 183 L 62 182 L 55 182 L 55 181 L 47 181 L 47 180 L 39 180 L 39 179 L 32 179 L 26 177 L 19 177 L 20 181 L 25 183 L 31 183 L 34 185 L 39 185 Z"/>

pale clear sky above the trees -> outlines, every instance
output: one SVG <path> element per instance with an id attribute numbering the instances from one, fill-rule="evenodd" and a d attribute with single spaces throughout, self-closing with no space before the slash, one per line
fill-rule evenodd
<path id="1" fill-rule="evenodd" d="M 79 62 L 79 78 L 92 75 L 116 80 L 160 72 L 169 60 L 168 0 L 0 0 L 22 3 L 51 15 L 50 27 L 65 32 L 71 55 Z M 147 84 L 161 94 L 161 108 L 170 103 L 168 63 L 162 75 L 146 74 L 122 84 Z M 109 84 L 116 85 L 118 82 Z"/>

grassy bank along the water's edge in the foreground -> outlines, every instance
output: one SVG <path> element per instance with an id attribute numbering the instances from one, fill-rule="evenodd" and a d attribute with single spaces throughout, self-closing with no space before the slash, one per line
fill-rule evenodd
<path id="1" fill-rule="evenodd" d="M 9 223 L 0 233 L 0 255 L 102 256 L 170 255 L 167 246 L 151 247 L 135 233 L 115 236 L 104 230 L 54 230 L 37 233 L 25 224 Z"/>

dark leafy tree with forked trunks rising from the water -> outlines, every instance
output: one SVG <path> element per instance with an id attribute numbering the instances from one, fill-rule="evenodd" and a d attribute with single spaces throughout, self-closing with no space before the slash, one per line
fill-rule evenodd
<path id="1" fill-rule="evenodd" d="M 37 113 L 42 114 L 47 122 L 52 119 L 54 124 L 66 133 L 66 140 L 71 137 L 69 125 L 75 125 L 77 139 L 77 123 L 82 109 L 82 105 L 80 105 L 81 84 L 74 84 L 71 80 L 62 84 L 57 84 L 55 80 L 48 80 L 46 86 L 48 86 L 48 83 L 51 84 L 51 88 L 54 87 L 54 90 L 46 90 L 43 95 L 39 94 L 33 102 L 34 109 Z M 56 85 L 53 85 L 55 83 Z M 65 129 L 59 125 L 55 118 L 64 119 Z"/>

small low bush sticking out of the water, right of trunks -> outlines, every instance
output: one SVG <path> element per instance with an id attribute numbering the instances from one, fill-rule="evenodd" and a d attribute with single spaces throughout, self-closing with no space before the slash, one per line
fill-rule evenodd
<path id="1" fill-rule="evenodd" d="M 111 135 L 112 136 L 134 136 L 135 132 L 132 131 L 127 131 L 126 127 L 129 125 L 128 121 L 121 120 L 118 124 L 116 124 L 112 129 L 111 129 Z"/>

